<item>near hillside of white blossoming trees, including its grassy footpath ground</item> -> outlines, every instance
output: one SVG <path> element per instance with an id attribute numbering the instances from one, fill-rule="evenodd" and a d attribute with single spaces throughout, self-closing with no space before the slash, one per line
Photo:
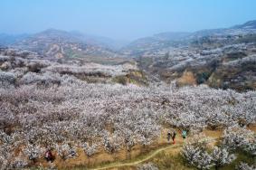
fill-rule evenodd
<path id="1" fill-rule="evenodd" d="M 228 155 L 223 168 L 253 168 L 253 90 L 146 86 L 134 63 L 56 61 L 12 49 L 1 49 L 0 70 L 0 169 L 136 169 L 147 161 L 191 169 L 213 167 L 216 152 Z M 214 134 L 221 140 L 207 145 Z M 195 151 L 196 159 L 185 156 Z"/>

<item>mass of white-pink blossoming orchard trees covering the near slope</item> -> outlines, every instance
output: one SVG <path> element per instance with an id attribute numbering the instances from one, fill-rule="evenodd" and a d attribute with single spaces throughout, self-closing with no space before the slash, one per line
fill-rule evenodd
<path id="1" fill-rule="evenodd" d="M 10 62 L 10 67 L 25 65 L 0 72 L 1 169 L 50 167 L 57 159 L 65 164 L 81 155 L 81 165 L 90 167 L 94 156 L 105 153 L 118 159 L 121 151 L 130 159 L 137 146 L 156 144 L 164 129 L 175 129 L 177 136 L 179 130 L 187 131 L 180 155 L 198 169 L 232 164 L 238 150 L 255 159 L 256 136 L 248 128 L 256 123 L 253 90 L 88 83 L 47 68 L 41 73 L 24 71 L 32 65 L 24 59 L 0 59 Z M 209 147 L 199 140 L 204 137 L 197 136 L 204 129 L 222 129 L 223 137 Z M 189 141 L 194 137 L 199 139 Z M 166 145 L 173 144 L 166 139 Z M 138 168 L 147 166 L 156 169 L 150 164 Z M 237 165 L 238 169 L 247 167 L 255 168 Z"/>

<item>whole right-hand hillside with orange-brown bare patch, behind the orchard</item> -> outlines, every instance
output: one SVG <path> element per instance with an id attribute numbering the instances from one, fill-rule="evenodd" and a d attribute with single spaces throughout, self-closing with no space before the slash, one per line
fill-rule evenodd
<path id="1" fill-rule="evenodd" d="M 149 75 L 178 86 L 255 90 L 255 22 L 195 33 L 160 33 L 123 49 Z M 163 38 L 164 37 L 164 38 Z"/>

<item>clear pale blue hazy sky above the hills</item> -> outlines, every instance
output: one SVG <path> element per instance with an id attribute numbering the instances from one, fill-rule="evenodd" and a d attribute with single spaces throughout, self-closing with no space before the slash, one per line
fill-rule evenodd
<path id="1" fill-rule="evenodd" d="M 132 40 L 249 20 L 255 0 L 0 0 L 0 33 L 56 28 Z"/>

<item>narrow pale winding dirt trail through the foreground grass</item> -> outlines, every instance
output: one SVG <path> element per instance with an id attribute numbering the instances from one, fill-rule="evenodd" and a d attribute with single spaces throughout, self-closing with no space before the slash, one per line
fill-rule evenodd
<path id="1" fill-rule="evenodd" d="M 202 140 L 205 140 L 207 143 L 212 143 L 213 141 L 215 141 L 217 139 L 219 139 L 219 137 L 206 137 L 206 138 L 203 138 Z M 100 167 L 90 168 L 89 170 L 102 170 L 102 169 L 108 169 L 108 168 L 117 168 L 117 167 L 121 167 L 121 166 L 138 165 L 143 162 L 146 162 L 147 160 L 151 159 L 152 157 L 156 156 L 157 154 L 159 154 L 162 151 L 166 151 L 167 149 L 170 149 L 170 148 L 177 148 L 177 147 L 182 147 L 182 146 L 183 146 L 183 144 L 164 146 L 164 147 L 156 149 L 153 152 L 150 152 L 146 157 L 135 160 L 133 162 L 128 162 L 128 163 L 115 162 L 115 163 L 110 163 L 109 165 L 102 165 Z"/>

